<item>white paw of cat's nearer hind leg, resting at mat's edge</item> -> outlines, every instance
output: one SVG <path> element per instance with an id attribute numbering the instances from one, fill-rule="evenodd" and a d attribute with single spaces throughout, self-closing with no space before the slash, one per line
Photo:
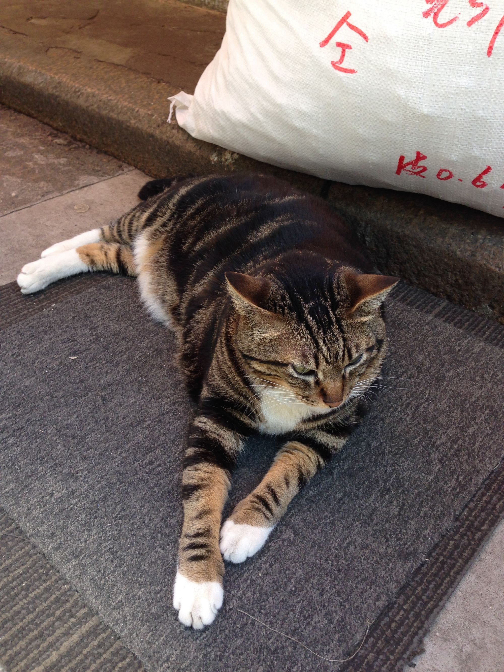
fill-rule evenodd
<path id="1" fill-rule="evenodd" d="M 87 270 L 89 270 L 87 265 L 81 261 L 77 252 L 68 250 L 25 264 L 21 273 L 17 276 L 17 284 L 21 288 L 22 294 L 32 294 L 32 292 L 43 290 L 44 287 L 55 280 L 75 276 L 75 274 Z"/>

